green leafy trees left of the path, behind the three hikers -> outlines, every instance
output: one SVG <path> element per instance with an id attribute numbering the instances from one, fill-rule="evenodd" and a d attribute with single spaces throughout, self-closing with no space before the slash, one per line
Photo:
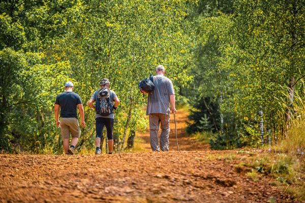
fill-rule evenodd
<path id="1" fill-rule="evenodd" d="M 159 64 L 177 86 L 192 79 L 186 10 L 183 1 L 2 2 L 0 149 L 61 153 L 56 95 L 71 80 L 86 104 L 107 77 L 121 101 L 114 134 L 123 150 L 128 131 L 147 125 L 139 80 Z M 95 113 L 84 107 L 79 150 L 92 148 L 95 137 Z"/>

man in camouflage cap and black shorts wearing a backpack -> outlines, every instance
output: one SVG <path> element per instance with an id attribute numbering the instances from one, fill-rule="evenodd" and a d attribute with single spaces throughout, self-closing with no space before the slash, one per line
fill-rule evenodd
<path id="1" fill-rule="evenodd" d="M 103 78 L 100 86 L 101 89 L 95 91 L 88 101 L 88 106 L 96 110 L 96 154 L 101 154 L 102 152 L 100 144 L 104 126 L 107 129 L 109 154 L 112 154 L 114 110 L 118 106 L 119 100 L 115 92 L 109 89 L 109 79 Z M 93 105 L 94 102 L 96 102 L 95 106 Z"/>

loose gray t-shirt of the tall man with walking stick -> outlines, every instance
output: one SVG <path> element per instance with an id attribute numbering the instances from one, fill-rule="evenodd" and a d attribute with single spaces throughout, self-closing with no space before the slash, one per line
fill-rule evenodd
<path id="1" fill-rule="evenodd" d="M 170 95 L 174 95 L 174 87 L 171 80 L 164 75 L 154 76 L 155 89 L 148 94 L 146 115 L 150 113 L 170 114 Z"/>

